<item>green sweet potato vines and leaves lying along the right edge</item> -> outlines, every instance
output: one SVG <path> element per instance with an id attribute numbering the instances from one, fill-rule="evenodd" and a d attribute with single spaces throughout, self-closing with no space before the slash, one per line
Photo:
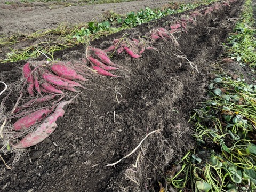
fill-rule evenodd
<path id="1" fill-rule="evenodd" d="M 240 65 L 255 67 L 251 3 L 246 1 L 226 51 Z M 208 88 L 211 99 L 190 119 L 197 151 L 189 151 L 166 180 L 179 191 L 256 191 L 256 85 L 219 74 Z"/>

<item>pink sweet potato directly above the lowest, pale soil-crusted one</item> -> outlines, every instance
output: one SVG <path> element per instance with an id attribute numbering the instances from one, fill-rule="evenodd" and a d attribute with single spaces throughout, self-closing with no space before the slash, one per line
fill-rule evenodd
<path id="1" fill-rule="evenodd" d="M 21 117 L 17 122 L 13 124 L 13 130 L 20 131 L 27 129 L 38 122 L 41 122 L 47 115 L 51 113 L 52 109 L 41 109 Z"/>

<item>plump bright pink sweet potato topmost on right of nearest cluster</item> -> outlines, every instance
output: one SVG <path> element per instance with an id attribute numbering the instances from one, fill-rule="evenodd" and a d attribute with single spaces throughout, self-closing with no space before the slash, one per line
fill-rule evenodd
<path id="1" fill-rule="evenodd" d="M 87 81 L 87 79 L 84 78 L 82 75 L 77 74 L 74 69 L 71 69 L 70 67 L 67 67 L 65 65 L 55 63 L 54 65 L 51 66 L 51 70 L 56 75 L 63 77 L 65 79 L 69 79 L 69 80 L 78 79 L 81 81 Z"/>

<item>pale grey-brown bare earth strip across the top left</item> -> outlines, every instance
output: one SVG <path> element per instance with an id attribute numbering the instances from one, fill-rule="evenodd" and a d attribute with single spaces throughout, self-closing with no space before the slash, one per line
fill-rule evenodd
<path id="1" fill-rule="evenodd" d="M 0 35 L 11 36 L 17 32 L 29 34 L 40 29 L 55 28 L 62 22 L 78 24 L 93 21 L 99 19 L 99 16 L 108 10 L 125 14 L 130 11 L 145 9 L 145 7 L 162 7 L 171 1 L 143 0 L 68 7 L 53 5 L 52 2 L 26 4 L 14 0 L 10 2 L 15 3 L 10 5 L 5 4 L 5 2 L 5 0 L 0 0 Z M 65 2 L 67 4 L 74 3 L 70 0 Z"/>

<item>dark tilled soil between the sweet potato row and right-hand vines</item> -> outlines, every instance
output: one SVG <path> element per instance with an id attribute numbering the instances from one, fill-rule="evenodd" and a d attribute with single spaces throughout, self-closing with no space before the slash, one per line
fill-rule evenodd
<path id="1" fill-rule="evenodd" d="M 141 58 L 114 55 L 112 60 L 127 69 L 130 73 L 123 73 L 129 77 L 91 78 L 85 85 L 94 89 L 81 90 L 49 138 L 24 152 L 12 170 L 1 162 L 1 190 L 159 191 L 158 181 L 165 187 L 167 170 L 194 146 L 189 112 L 207 97 L 206 87 L 214 78 L 211 63 L 223 53 L 222 43 L 235 24 L 230 18 L 238 17 L 242 3 L 197 17 L 177 39 L 179 46 L 159 40 L 153 44 L 158 51 L 146 50 Z M 164 17 L 91 44 L 105 48 L 106 42 L 124 33 L 143 35 L 177 17 Z M 84 52 L 84 46 L 77 46 L 56 53 L 55 58 L 76 60 Z M 23 63 L 1 65 L 0 81 L 17 81 Z M 160 131 L 149 135 L 129 158 L 107 166 L 154 130 Z M 13 153 L 1 156 L 12 165 Z"/>

